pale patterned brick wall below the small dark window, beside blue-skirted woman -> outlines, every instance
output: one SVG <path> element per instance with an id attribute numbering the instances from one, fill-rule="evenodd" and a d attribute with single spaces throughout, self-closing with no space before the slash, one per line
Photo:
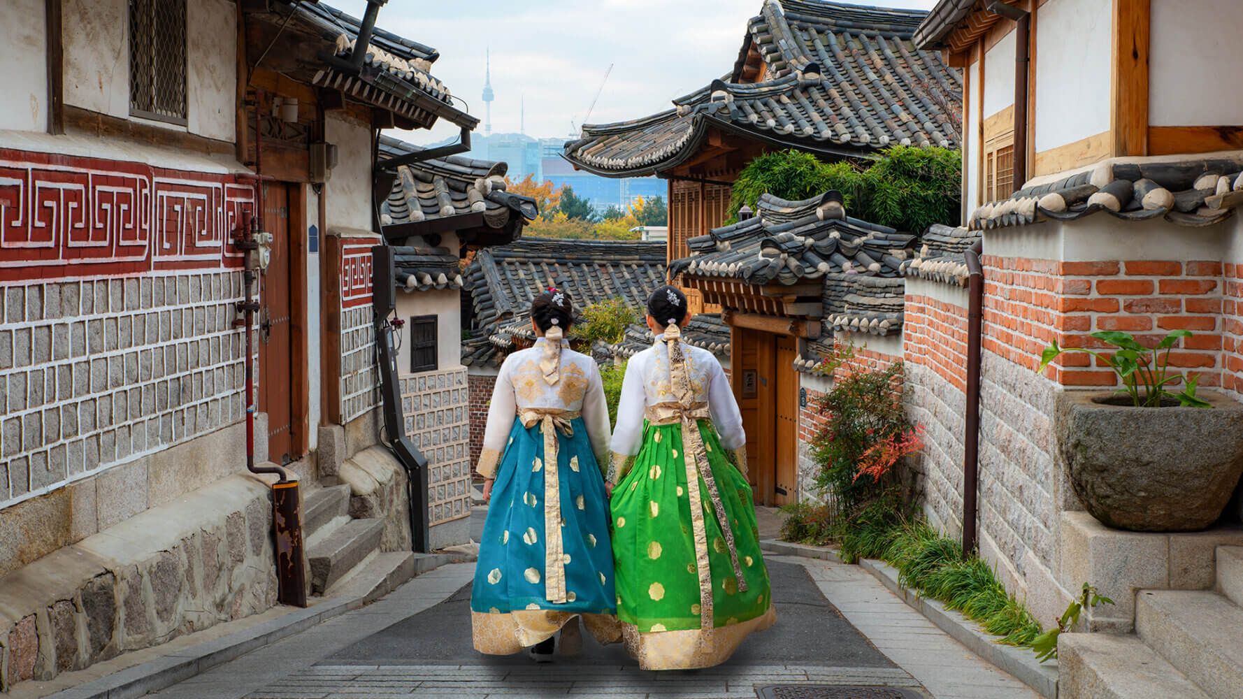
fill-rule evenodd
<path id="1" fill-rule="evenodd" d="M 428 502 L 433 525 L 470 516 L 466 368 L 404 374 L 405 433 L 428 458 Z"/>

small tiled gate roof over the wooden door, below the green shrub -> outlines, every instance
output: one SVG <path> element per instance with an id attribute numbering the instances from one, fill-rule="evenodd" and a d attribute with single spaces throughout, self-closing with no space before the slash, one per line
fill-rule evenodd
<path id="1" fill-rule="evenodd" d="M 761 195 L 756 215 L 691 238 L 670 274 L 769 286 L 822 284 L 824 327 L 889 335 L 902 323 L 902 267 L 915 235 L 846 215 L 842 195 Z"/>

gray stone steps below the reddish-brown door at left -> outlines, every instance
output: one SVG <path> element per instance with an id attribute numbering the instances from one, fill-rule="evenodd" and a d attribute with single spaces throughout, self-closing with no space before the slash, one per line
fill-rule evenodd
<path id="1" fill-rule="evenodd" d="M 326 597 L 359 577 L 404 582 L 413 575 L 410 552 L 380 551 L 384 521 L 353 519 L 349 515 L 351 489 L 332 485 L 314 490 L 302 505 L 302 535 L 312 595 Z M 400 576 L 409 568 L 411 575 Z"/>

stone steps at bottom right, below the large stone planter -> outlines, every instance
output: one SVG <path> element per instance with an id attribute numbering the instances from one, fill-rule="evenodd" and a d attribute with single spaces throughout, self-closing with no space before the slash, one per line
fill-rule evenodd
<path id="1" fill-rule="evenodd" d="M 1058 695 L 1243 699 L 1243 546 L 1216 549 L 1214 590 L 1141 590 L 1135 633 L 1068 633 Z"/>

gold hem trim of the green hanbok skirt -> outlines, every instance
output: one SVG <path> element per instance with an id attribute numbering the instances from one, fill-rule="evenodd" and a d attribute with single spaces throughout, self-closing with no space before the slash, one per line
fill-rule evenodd
<path id="1" fill-rule="evenodd" d="M 619 622 L 626 653 L 644 670 L 692 670 L 711 668 L 730 659 L 747 636 L 777 623 L 777 609 L 753 619 L 716 628 L 640 632 L 639 627 Z"/>

